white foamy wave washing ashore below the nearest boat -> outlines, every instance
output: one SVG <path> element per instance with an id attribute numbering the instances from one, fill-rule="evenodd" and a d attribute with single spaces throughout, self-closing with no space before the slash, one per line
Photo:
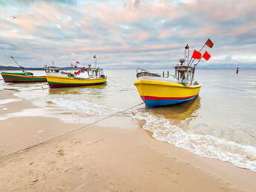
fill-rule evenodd
<path id="1" fill-rule="evenodd" d="M 153 137 L 159 141 L 167 141 L 199 156 L 229 161 L 237 167 L 256 172 L 256 148 L 253 146 L 226 141 L 213 135 L 188 133 L 170 124 L 167 118 L 148 112 L 137 112 L 133 118 L 144 120 L 143 128 L 153 132 Z"/>

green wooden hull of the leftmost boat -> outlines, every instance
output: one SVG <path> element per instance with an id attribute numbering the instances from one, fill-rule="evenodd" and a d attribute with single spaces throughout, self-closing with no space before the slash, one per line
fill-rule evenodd
<path id="1" fill-rule="evenodd" d="M 23 72 L 21 73 L 11 73 L 11 72 L 1 72 L 1 76 L 5 83 L 33 83 L 33 82 L 46 82 L 45 76 L 30 76 Z"/>

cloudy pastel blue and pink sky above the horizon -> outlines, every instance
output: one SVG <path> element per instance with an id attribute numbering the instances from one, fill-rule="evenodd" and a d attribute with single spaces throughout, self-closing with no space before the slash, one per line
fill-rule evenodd
<path id="1" fill-rule="evenodd" d="M 173 68 L 214 42 L 198 68 L 256 69 L 256 0 L 0 0 L 0 65 Z"/>

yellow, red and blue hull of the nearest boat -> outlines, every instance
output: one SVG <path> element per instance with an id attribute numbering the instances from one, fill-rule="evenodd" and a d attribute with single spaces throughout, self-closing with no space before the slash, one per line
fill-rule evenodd
<path id="1" fill-rule="evenodd" d="M 184 86 L 179 83 L 157 80 L 138 80 L 134 83 L 147 109 L 170 106 L 193 100 L 199 94 L 201 84 Z"/>

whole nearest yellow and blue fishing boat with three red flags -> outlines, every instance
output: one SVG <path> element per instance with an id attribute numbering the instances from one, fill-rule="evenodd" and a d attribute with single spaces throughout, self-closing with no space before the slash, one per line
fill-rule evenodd
<path id="1" fill-rule="evenodd" d="M 212 48 L 213 43 L 208 39 L 205 45 Z M 202 51 L 202 48 L 200 51 Z M 195 50 L 191 60 L 198 59 L 200 61 L 202 58 L 208 60 L 211 57 L 207 51 L 201 57 L 200 51 Z M 188 59 L 188 63 L 185 64 L 186 59 Z M 136 76 L 138 80 L 135 81 L 134 85 L 141 99 L 146 104 L 147 109 L 183 103 L 193 100 L 199 95 L 202 84 L 194 81 L 196 65 L 199 61 L 191 66 L 193 64 L 191 60 L 189 61 L 189 46 L 187 44 L 185 47 L 185 58 L 180 59 L 180 63 L 174 66 L 174 75 L 170 75 L 169 72 L 167 74 L 164 74 L 164 72 L 159 74 L 141 68 L 137 69 Z M 173 79 L 169 77 L 173 77 Z"/>

